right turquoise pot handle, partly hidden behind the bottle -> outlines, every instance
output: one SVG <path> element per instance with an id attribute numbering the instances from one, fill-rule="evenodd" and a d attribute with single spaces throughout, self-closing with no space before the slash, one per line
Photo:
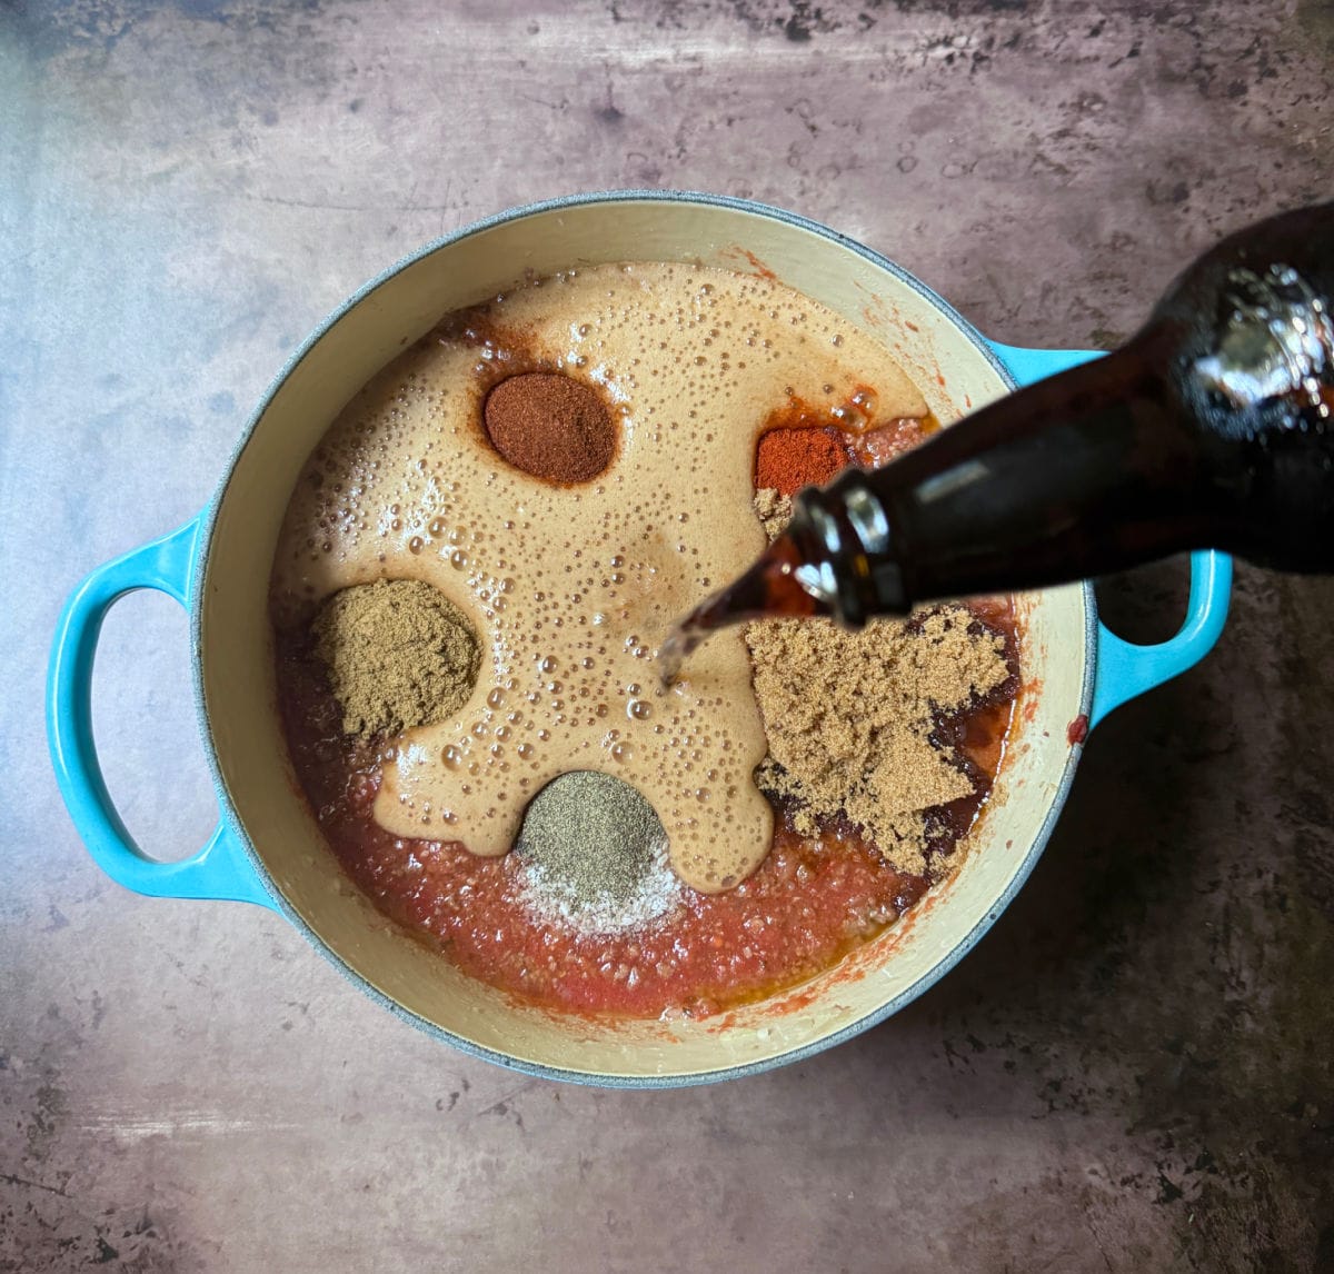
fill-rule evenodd
<path id="1" fill-rule="evenodd" d="M 1097 350 L 1022 350 L 994 340 L 987 344 L 1021 388 L 1102 356 Z M 1186 619 L 1175 636 L 1155 646 L 1137 646 L 1099 622 L 1098 663 L 1087 728 L 1091 730 L 1127 699 L 1199 663 L 1223 631 L 1231 588 L 1233 559 L 1227 554 L 1211 548 L 1193 552 Z"/>

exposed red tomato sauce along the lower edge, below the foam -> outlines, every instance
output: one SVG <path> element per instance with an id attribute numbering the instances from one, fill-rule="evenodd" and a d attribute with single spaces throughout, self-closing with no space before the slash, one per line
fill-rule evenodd
<path id="1" fill-rule="evenodd" d="M 726 894 L 687 890 L 686 903 L 654 926 L 616 935 L 580 936 L 534 916 L 518 896 L 522 868 L 512 854 L 478 858 L 459 842 L 379 827 L 371 807 L 382 751 L 342 732 L 319 662 L 304 642 L 283 635 L 279 708 L 300 784 L 344 871 L 464 973 L 566 1011 L 707 1017 L 832 967 L 950 872 L 990 794 L 1019 687 L 1009 602 L 978 603 L 974 614 L 1005 638 L 1011 675 L 982 703 L 938 722 L 932 740 L 952 751 L 974 791 L 927 812 L 924 875 L 894 871 L 847 826 L 824 827 L 814 840 L 798 836 L 778 808 L 772 851 L 750 879 Z"/>

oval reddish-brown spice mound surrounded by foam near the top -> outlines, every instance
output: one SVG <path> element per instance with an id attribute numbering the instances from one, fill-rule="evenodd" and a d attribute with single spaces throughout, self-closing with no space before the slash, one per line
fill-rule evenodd
<path id="1" fill-rule="evenodd" d="M 616 454 L 616 424 L 598 394 L 559 372 L 524 372 L 488 395 L 487 436 L 515 468 L 547 482 L 590 482 Z"/>

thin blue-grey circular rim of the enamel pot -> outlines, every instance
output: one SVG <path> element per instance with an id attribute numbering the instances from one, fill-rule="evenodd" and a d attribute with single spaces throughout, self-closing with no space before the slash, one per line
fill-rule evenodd
<path id="1" fill-rule="evenodd" d="M 680 1089 L 680 1087 L 694 1087 L 706 1083 L 720 1083 L 724 1079 L 740 1079 L 747 1075 L 758 1075 L 767 1070 L 774 1070 L 779 1066 L 787 1066 L 794 1062 L 802 1062 L 807 1058 L 814 1057 L 818 1053 L 823 1053 L 826 1049 L 832 1049 L 836 1045 L 846 1043 L 863 1031 L 870 1030 L 872 1026 L 879 1026 L 887 1018 L 899 1013 L 902 1009 L 907 1007 L 912 1001 L 920 997 L 930 987 L 935 986 L 946 974 L 948 974 L 954 967 L 980 942 L 982 936 L 1000 916 L 1000 912 L 1010 906 L 1014 896 L 1019 892 L 1023 884 L 1027 882 L 1033 868 L 1037 866 L 1038 859 L 1042 856 L 1042 851 L 1047 846 L 1047 840 L 1051 838 L 1051 832 L 1061 816 L 1061 811 L 1065 807 L 1066 798 L 1070 792 L 1070 784 L 1074 780 L 1075 770 L 1079 764 L 1079 756 L 1082 748 L 1071 747 L 1066 754 L 1066 763 L 1061 772 L 1061 779 L 1057 784 L 1057 790 L 1047 806 L 1046 815 L 1043 816 L 1042 824 L 1039 826 L 1029 851 L 1025 854 L 1023 862 L 1019 863 L 1018 870 L 1010 878 L 1006 888 L 996 896 L 992 904 L 987 908 L 986 915 L 979 918 L 976 923 L 968 930 L 964 936 L 956 942 L 935 965 L 931 966 L 920 978 L 914 983 L 904 987 L 896 995 L 880 1002 L 875 1009 L 867 1013 L 864 1017 L 858 1018 L 858 1021 L 848 1023 L 840 1030 L 824 1035 L 819 1039 L 814 1039 L 808 1043 L 799 1045 L 795 1049 L 790 1049 L 786 1053 L 775 1054 L 774 1057 L 764 1058 L 758 1062 L 744 1062 L 736 1066 L 724 1066 L 718 1070 L 702 1070 L 702 1071 L 683 1071 L 674 1074 L 662 1075 L 615 1075 L 603 1074 L 599 1071 L 584 1071 L 584 1070 L 567 1070 L 556 1066 L 547 1066 L 539 1062 L 528 1062 L 523 1058 L 512 1057 L 511 1054 L 498 1053 L 494 1049 L 488 1049 L 483 1045 L 474 1043 L 462 1035 L 456 1035 L 452 1031 L 447 1031 L 438 1026 L 435 1022 L 420 1017 L 404 1009 L 400 1003 L 391 999 L 382 990 L 368 982 L 362 974 L 352 969 L 324 939 L 305 922 L 305 919 L 292 907 L 287 898 L 273 886 L 272 876 L 269 875 L 268 867 L 265 866 L 259 851 L 251 842 L 249 832 L 241 823 L 236 807 L 231 798 L 231 790 L 227 783 L 227 778 L 223 774 L 221 764 L 219 762 L 217 747 L 213 739 L 212 724 L 208 718 L 208 710 L 204 700 L 204 671 L 203 671 L 203 596 L 204 596 L 204 580 L 208 575 L 208 560 L 213 546 L 213 530 L 216 526 L 219 511 L 221 510 L 223 502 L 227 498 L 228 488 L 231 486 L 232 478 L 236 474 L 236 466 L 240 462 L 241 455 L 249 446 L 255 431 L 259 428 L 269 404 L 273 398 L 284 384 L 288 376 L 295 371 L 295 368 L 301 363 L 303 359 L 324 339 L 329 330 L 339 323 L 347 313 L 350 313 L 356 305 L 366 300 L 372 292 L 380 288 L 384 283 L 392 279 L 395 275 L 407 269 L 410 265 L 416 264 L 423 257 L 440 251 L 442 248 L 451 247 L 452 244 L 462 243 L 464 239 L 470 239 L 474 235 L 482 233 L 483 231 L 492 229 L 496 225 L 504 225 L 511 221 L 524 220 L 532 216 L 540 216 L 548 212 L 556 212 L 564 208 L 582 207 L 584 204 L 618 204 L 618 203 L 660 203 L 660 204 L 698 204 L 711 208 L 726 208 L 732 212 L 744 212 L 752 216 L 767 217 L 774 221 L 779 221 L 794 229 L 806 231 L 811 235 L 818 235 L 822 239 L 830 240 L 839 247 L 846 248 L 850 252 L 855 252 L 868 264 L 874 265 L 876 269 L 891 275 L 899 283 L 911 288 L 916 292 L 928 305 L 935 308 L 943 317 L 946 317 L 967 340 L 972 347 L 987 360 L 991 368 L 996 372 L 1000 380 L 1009 390 L 1017 388 L 1014 376 L 1010 375 L 1009 368 L 1000 362 L 995 351 L 983 338 L 983 335 L 960 315 L 944 297 L 932 291 L 924 283 L 922 283 L 916 276 L 908 273 L 903 267 L 891 261 L 887 256 L 876 252 L 874 248 L 868 248 L 855 239 L 850 239 L 847 235 L 842 235 L 819 221 L 811 220 L 810 217 L 802 216 L 795 212 L 788 212 L 783 208 L 776 208 L 771 204 L 758 203 L 750 199 L 738 199 L 731 195 L 711 195 L 702 191 L 675 191 L 675 189 L 624 189 L 624 191 L 594 191 L 582 195 L 563 195 L 554 199 L 544 199 L 538 203 L 523 204 L 520 207 L 508 208 L 503 212 L 494 213 L 492 216 L 483 217 L 478 221 L 471 221 L 467 225 L 462 225 L 447 235 L 440 235 L 436 239 L 430 240 L 414 252 L 407 253 L 400 257 L 395 264 L 390 265 L 387 269 L 382 271 L 368 283 L 363 284 L 356 292 L 348 296 L 338 308 L 331 311 L 324 320 L 305 338 L 304 342 L 287 358 L 277 375 L 269 382 L 268 388 L 264 391 L 255 410 L 251 412 L 245 427 L 241 431 L 236 446 L 232 448 L 232 454 L 227 460 L 227 466 L 223 471 L 223 478 L 217 483 L 212 498 L 208 502 L 199 520 L 199 534 L 195 542 L 195 562 L 192 567 L 192 579 L 189 587 L 189 596 L 192 600 L 191 614 L 189 614 L 189 640 L 191 640 L 191 682 L 192 692 L 195 699 L 195 716 L 199 723 L 199 731 L 204 740 L 204 756 L 208 764 L 209 774 L 213 779 L 213 787 L 219 796 L 219 807 L 221 810 L 223 822 L 227 824 L 232 835 L 235 836 L 237 844 L 245 854 L 251 868 L 255 871 L 256 876 L 263 882 L 264 888 L 272 898 L 275 910 L 277 910 L 301 936 L 305 938 L 311 946 L 320 952 L 344 978 L 347 978 L 358 990 L 364 995 L 370 997 L 375 1003 L 387 1009 L 400 1021 L 424 1031 L 440 1043 L 446 1043 L 452 1049 L 458 1049 L 460 1053 L 468 1057 L 479 1058 L 486 1062 L 491 1062 L 496 1066 L 503 1066 L 508 1070 L 519 1071 L 520 1074 L 532 1075 L 539 1079 L 556 1079 L 568 1083 L 586 1085 L 592 1087 L 603 1089 Z M 1094 674 L 1098 666 L 1098 606 L 1097 598 L 1094 595 L 1093 584 L 1085 580 L 1081 586 L 1083 590 L 1085 600 L 1085 667 L 1083 676 L 1081 679 L 1079 691 L 1079 711 L 1087 714 L 1093 703 L 1093 690 L 1094 690 Z"/>

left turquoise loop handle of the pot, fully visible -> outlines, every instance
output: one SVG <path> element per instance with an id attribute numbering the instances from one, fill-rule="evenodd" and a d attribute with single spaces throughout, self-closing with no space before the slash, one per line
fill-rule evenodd
<path id="1" fill-rule="evenodd" d="M 156 588 L 187 610 L 203 515 L 97 567 L 69 595 L 47 670 L 47 742 L 75 828 L 117 884 L 155 898 L 216 898 L 273 907 L 241 844 L 220 818 L 204 847 L 176 863 L 148 858 L 116 812 L 92 734 L 92 668 L 107 611 L 125 594 Z"/>

